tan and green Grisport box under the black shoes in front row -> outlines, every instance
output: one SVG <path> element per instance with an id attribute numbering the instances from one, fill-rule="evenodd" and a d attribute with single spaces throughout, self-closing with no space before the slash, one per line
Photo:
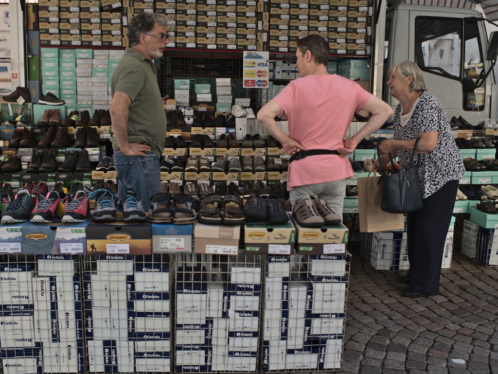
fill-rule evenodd
<path id="1" fill-rule="evenodd" d="M 282 225 L 245 224 L 246 253 L 293 254 L 296 229 L 289 221 Z"/>

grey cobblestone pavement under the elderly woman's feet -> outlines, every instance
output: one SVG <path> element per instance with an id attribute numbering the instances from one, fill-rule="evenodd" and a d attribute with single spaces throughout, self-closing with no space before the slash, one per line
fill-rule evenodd
<path id="1" fill-rule="evenodd" d="M 343 364 L 362 374 L 498 374 L 498 268 L 453 252 L 440 294 L 400 296 L 404 272 L 375 271 L 351 243 Z"/>

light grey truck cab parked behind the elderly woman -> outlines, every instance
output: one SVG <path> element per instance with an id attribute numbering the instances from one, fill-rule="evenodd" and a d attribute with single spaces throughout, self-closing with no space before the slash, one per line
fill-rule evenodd
<path id="1" fill-rule="evenodd" d="M 376 70 L 382 74 L 377 96 L 381 93 L 384 101 L 396 107 L 398 102 L 389 96 L 385 84 L 387 70 L 410 60 L 421 68 L 427 90 L 443 104 L 450 120 L 462 116 L 477 125 L 483 118 L 496 119 L 497 86 L 493 72 L 485 78 L 492 61 L 484 21 L 477 19 L 481 16 L 475 10 L 445 6 L 387 8 L 383 56 L 378 56 L 378 62 L 383 57 L 383 66 Z"/>

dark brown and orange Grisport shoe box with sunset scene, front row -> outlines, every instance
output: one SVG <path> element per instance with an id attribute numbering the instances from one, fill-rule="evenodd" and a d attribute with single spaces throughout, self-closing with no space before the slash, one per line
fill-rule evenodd
<path id="1" fill-rule="evenodd" d="M 118 214 L 120 217 L 121 214 Z M 90 222 L 87 227 L 88 254 L 150 254 L 150 223 Z"/>

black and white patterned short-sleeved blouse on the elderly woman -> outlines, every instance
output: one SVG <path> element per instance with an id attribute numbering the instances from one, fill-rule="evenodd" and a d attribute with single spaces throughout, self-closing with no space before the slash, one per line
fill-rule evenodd
<path id="1" fill-rule="evenodd" d="M 448 115 L 439 100 L 424 91 L 420 95 L 413 115 L 405 126 L 400 123 L 402 107 L 398 104 L 394 111 L 394 139 L 414 139 L 418 134 L 438 131 L 437 146 L 429 153 L 420 155 L 418 178 L 422 198 L 429 197 L 450 180 L 459 180 L 465 173 L 462 156 L 455 143 Z M 408 167 L 411 152 L 397 151 L 401 167 Z M 418 154 L 415 154 L 416 161 Z"/>

